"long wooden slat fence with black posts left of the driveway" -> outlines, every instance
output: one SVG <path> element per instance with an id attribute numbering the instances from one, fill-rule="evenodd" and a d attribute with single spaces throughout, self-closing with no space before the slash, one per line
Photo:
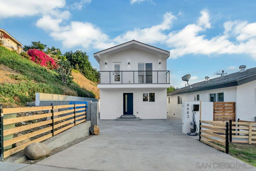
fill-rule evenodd
<path id="1" fill-rule="evenodd" d="M 84 107 L 83 107 L 84 106 Z M 83 107 L 83 108 L 77 108 L 77 107 Z M 4 158 L 15 154 L 21 150 L 23 150 L 27 145 L 34 143 L 34 142 L 41 142 L 47 138 L 50 138 L 62 131 L 65 131 L 68 128 L 71 128 L 72 126 L 75 126 L 77 124 L 80 124 L 82 122 L 86 121 L 86 104 L 72 104 L 72 105 L 59 105 L 59 106 L 41 106 L 41 107 L 20 107 L 20 108 L 2 108 L 2 105 L 0 105 L 0 125 L 1 125 L 1 137 L 0 137 L 0 143 L 1 143 L 1 160 Z M 55 109 L 65 109 L 60 112 L 54 112 Z M 71 109 L 70 109 L 71 108 Z M 38 115 L 31 115 L 31 116 L 22 116 L 22 117 L 16 117 L 16 118 L 8 118 L 4 119 L 4 115 L 6 114 L 12 114 L 12 113 L 21 113 L 21 112 L 33 112 L 33 111 L 39 111 L 39 110 L 50 110 L 50 113 L 46 114 L 38 114 Z M 66 116 L 61 116 L 58 118 L 54 118 L 54 116 L 62 115 L 62 114 L 68 114 L 72 113 Z M 4 125 L 8 124 L 15 124 L 18 122 L 24 122 L 24 121 L 29 121 L 29 120 L 34 120 L 34 119 L 41 119 L 41 118 L 46 118 L 46 117 L 51 117 L 50 120 L 45 120 L 33 124 L 28 124 L 24 126 L 18 126 L 15 128 L 10 128 L 10 129 L 5 129 L 4 130 Z M 61 123 L 55 124 L 56 122 L 60 120 L 65 120 L 69 119 L 66 121 L 63 121 Z M 79 120 L 80 119 L 80 120 Z M 68 124 L 68 125 L 67 125 Z M 8 139 L 4 141 L 4 136 L 18 133 L 24 130 L 30 130 L 31 128 L 37 128 L 39 126 L 46 126 L 45 128 L 18 136 L 14 137 L 12 139 Z M 61 126 L 64 126 L 58 130 L 56 128 L 59 128 Z M 49 132 L 49 133 L 47 133 Z M 34 140 L 31 140 L 28 143 L 16 146 L 12 149 L 4 150 L 4 147 L 7 147 L 9 145 L 13 145 L 15 143 L 18 143 L 20 141 L 23 141 L 25 139 L 38 136 L 40 134 L 45 134 L 39 138 L 36 138 Z"/>

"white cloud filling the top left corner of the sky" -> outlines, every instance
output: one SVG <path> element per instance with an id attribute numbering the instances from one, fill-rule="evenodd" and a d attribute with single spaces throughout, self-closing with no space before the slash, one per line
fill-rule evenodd
<path id="1" fill-rule="evenodd" d="M 65 0 L 9 0 L 0 1 L 0 18 L 24 17 L 38 14 L 46 14 L 56 8 L 62 8 Z"/>

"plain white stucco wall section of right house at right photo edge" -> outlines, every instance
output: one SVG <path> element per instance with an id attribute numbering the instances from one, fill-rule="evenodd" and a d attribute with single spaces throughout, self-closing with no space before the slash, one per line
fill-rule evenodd
<path id="1" fill-rule="evenodd" d="M 237 119 L 255 121 L 256 116 L 256 80 L 237 86 Z"/>

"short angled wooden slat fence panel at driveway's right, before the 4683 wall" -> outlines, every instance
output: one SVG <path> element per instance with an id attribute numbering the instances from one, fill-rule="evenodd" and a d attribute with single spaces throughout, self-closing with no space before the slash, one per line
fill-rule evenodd
<path id="1" fill-rule="evenodd" d="M 220 135 L 220 134 L 224 135 Z M 228 154 L 229 152 L 229 123 L 200 120 L 199 140 Z M 214 143 L 215 144 L 214 144 Z M 216 145 L 218 144 L 218 145 Z M 221 147 L 224 146 L 225 148 Z"/>

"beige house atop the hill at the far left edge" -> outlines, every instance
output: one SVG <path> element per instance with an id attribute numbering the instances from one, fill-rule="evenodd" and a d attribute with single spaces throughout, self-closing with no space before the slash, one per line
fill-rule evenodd
<path id="1" fill-rule="evenodd" d="M 0 34 L 7 36 L 7 38 L 2 37 L 2 39 L 0 39 L 3 41 L 3 46 L 5 46 L 9 50 L 13 50 L 12 48 L 14 48 L 14 50 L 18 53 L 23 52 L 23 45 L 19 41 L 17 41 L 12 35 L 7 33 L 2 28 L 0 28 Z"/>

